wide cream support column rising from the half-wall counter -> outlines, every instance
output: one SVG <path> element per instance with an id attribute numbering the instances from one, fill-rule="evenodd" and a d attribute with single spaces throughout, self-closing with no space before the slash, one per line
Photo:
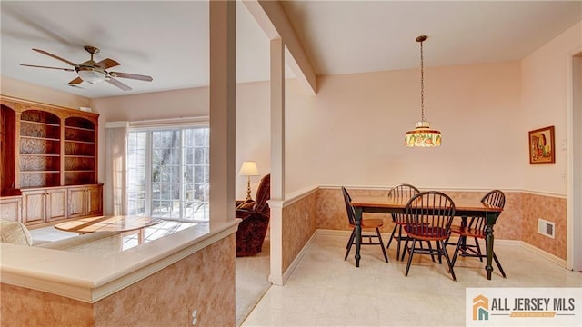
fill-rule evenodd
<path id="1" fill-rule="evenodd" d="M 210 1 L 210 223 L 235 219 L 236 3 Z"/>

